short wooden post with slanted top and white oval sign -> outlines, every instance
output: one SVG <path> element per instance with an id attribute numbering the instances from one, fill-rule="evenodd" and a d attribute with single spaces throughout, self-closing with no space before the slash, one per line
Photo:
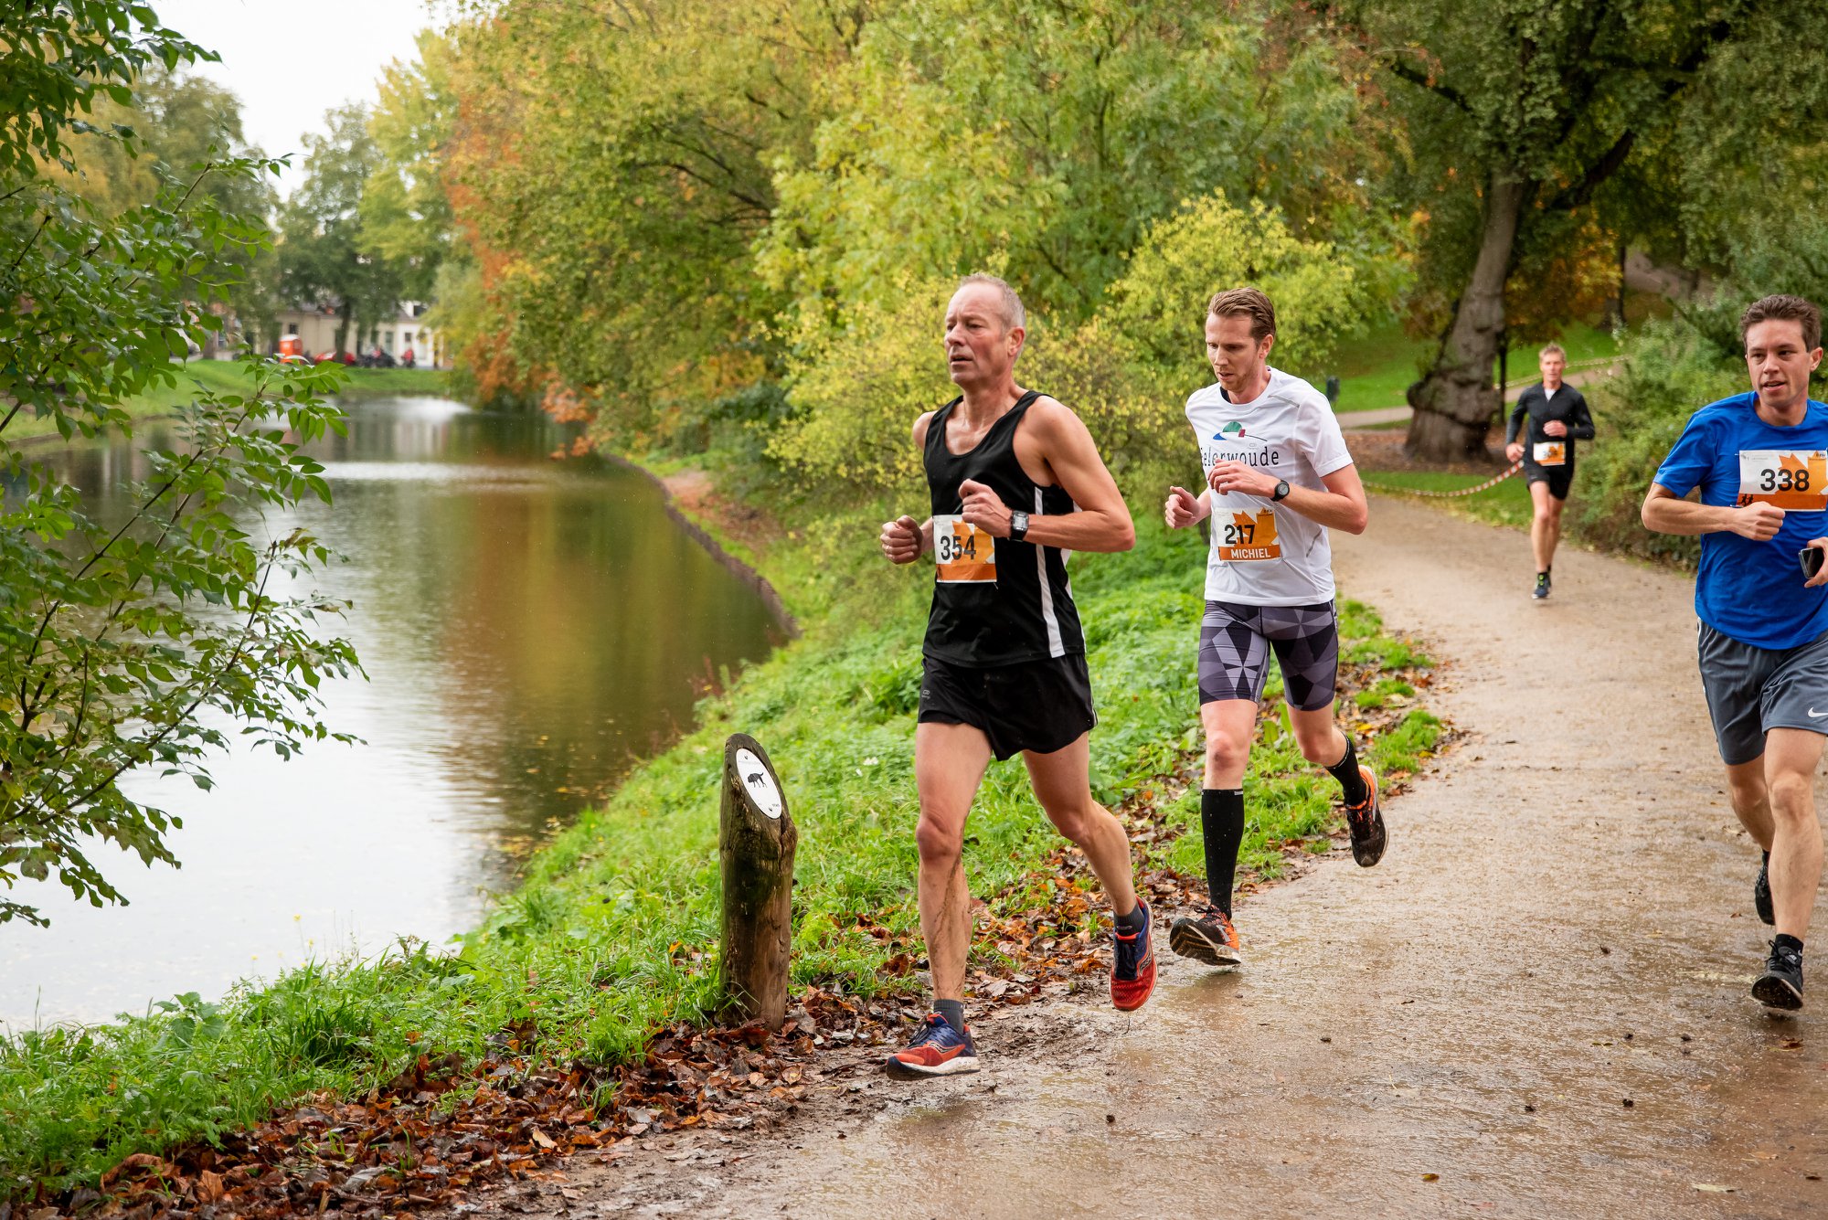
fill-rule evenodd
<path id="1" fill-rule="evenodd" d="M 781 1028 L 788 1012 L 788 952 L 793 942 L 793 847 L 768 751 L 742 732 L 724 741 L 724 804 L 718 851 L 724 864 L 724 1015 Z"/>

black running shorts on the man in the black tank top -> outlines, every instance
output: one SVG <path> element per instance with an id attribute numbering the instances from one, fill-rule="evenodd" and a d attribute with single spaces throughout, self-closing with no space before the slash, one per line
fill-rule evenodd
<path id="1" fill-rule="evenodd" d="M 919 723 L 982 729 L 998 762 L 1066 749 L 1099 723 L 1082 652 L 983 668 L 925 657 L 925 667 Z"/>

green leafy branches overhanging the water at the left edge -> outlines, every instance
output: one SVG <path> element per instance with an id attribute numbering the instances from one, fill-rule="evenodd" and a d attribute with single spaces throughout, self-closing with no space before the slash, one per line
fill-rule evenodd
<path id="1" fill-rule="evenodd" d="M 68 186 L 73 137 L 139 142 L 97 122 L 102 99 L 132 110 L 135 80 L 203 55 L 146 5 L 82 0 L 13 5 L 0 40 L 0 893 L 55 875 L 95 906 L 124 900 L 97 844 L 175 864 L 177 820 L 121 780 L 207 787 L 230 734 L 282 754 L 329 736 L 318 687 L 355 668 L 314 630 L 340 608 L 309 588 L 325 550 L 261 521 L 329 499 L 298 446 L 340 426 L 320 396 L 333 371 L 256 360 L 250 393 L 199 393 L 106 511 L 15 440 L 27 420 L 130 433 L 122 400 L 175 385 L 174 356 L 221 331 L 223 252 L 267 239 L 221 205 L 274 172 L 260 159 L 212 157 L 119 212 Z M 11 919 L 46 917 L 0 897 Z"/>

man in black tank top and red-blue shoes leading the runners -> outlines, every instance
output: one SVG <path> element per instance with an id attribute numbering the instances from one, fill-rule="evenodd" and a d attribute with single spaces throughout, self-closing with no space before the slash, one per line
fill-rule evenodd
<path id="1" fill-rule="evenodd" d="M 1022 301 L 1007 283 L 971 276 L 960 285 L 947 307 L 945 351 L 963 394 L 914 424 L 932 517 L 899 517 L 881 535 L 892 563 L 934 561 L 914 729 L 919 924 L 934 1012 L 885 1065 L 903 1079 L 978 1070 L 963 1008 L 971 893 L 962 857 L 993 754 L 1022 754 L 1035 798 L 1086 853 L 1111 900 L 1111 1003 L 1139 1008 L 1155 986 L 1130 840 L 1088 782 L 1086 732 L 1097 716 L 1066 581 L 1075 550 L 1130 550 L 1135 531 L 1079 416 L 1016 385 L 1024 338 Z"/>

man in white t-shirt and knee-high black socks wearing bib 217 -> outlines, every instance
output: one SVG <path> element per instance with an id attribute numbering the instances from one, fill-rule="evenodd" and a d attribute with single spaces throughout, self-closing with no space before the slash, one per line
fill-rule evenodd
<path id="1" fill-rule="evenodd" d="M 1327 530 L 1362 533 L 1366 491 L 1325 396 L 1269 367 L 1274 343 L 1276 307 L 1259 290 L 1232 289 L 1206 305 L 1206 358 L 1219 380 L 1186 400 L 1206 489 L 1196 497 L 1170 488 L 1164 508 L 1175 530 L 1212 519 L 1199 625 L 1199 720 L 1206 731 L 1199 822 L 1210 904 L 1174 920 L 1168 944 L 1214 966 L 1241 961 L 1232 878 L 1270 652 L 1302 754 L 1344 791 L 1353 858 L 1371 868 L 1386 840 L 1376 776 L 1333 721 L 1340 634 Z"/>

